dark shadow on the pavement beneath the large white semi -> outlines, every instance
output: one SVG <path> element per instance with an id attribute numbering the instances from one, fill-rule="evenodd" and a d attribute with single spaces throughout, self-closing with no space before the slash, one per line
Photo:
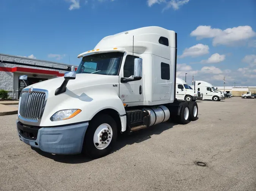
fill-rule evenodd
<path id="1" fill-rule="evenodd" d="M 139 131 L 131 132 L 130 134 L 119 134 L 116 146 L 113 149 L 113 152 L 118 151 L 119 149 L 123 148 L 126 145 L 132 145 L 133 143 L 141 143 L 145 140 L 151 139 L 152 135 L 159 135 L 163 131 L 173 128 L 176 123 L 172 122 L 165 122 L 160 123 L 158 125 L 151 126 L 149 128 L 141 129 Z M 38 148 L 31 147 L 34 151 L 36 151 L 41 156 L 47 157 L 49 159 L 55 160 L 61 163 L 70 163 L 70 164 L 77 164 L 77 163 L 85 163 L 90 162 L 91 160 L 88 156 L 83 154 L 76 154 L 76 155 L 58 155 L 58 154 L 50 154 L 48 152 L 41 151 Z"/>

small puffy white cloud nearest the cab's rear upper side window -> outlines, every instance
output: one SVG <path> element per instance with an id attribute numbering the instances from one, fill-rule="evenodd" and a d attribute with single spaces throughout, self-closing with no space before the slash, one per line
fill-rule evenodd
<path id="1" fill-rule="evenodd" d="M 195 46 L 191 46 L 190 48 L 185 48 L 180 58 L 184 58 L 187 56 L 198 57 L 204 54 L 209 54 L 209 46 L 197 44 Z"/>

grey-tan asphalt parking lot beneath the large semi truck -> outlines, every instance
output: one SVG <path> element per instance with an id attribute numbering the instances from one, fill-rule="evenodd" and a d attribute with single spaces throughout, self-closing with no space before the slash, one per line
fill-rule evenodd
<path id="1" fill-rule="evenodd" d="M 198 107 L 195 122 L 121 136 L 116 150 L 97 160 L 31 149 L 17 136 L 17 116 L 0 116 L 0 190 L 255 191 L 256 99 Z"/>

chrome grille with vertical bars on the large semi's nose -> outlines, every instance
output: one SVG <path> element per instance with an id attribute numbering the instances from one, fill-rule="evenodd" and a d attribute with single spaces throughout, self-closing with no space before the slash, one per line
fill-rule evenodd
<path id="1" fill-rule="evenodd" d="M 19 115 L 25 119 L 39 120 L 46 105 L 46 92 L 22 92 L 20 95 Z"/>

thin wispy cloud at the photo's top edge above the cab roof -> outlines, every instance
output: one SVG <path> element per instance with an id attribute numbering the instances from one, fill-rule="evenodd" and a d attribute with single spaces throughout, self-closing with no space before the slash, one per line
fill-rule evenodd
<path id="1" fill-rule="evenodd" d="M 179 9 L 182 5 L 185 5 L 188 3 L 190 0 L 148 0 L 148 6 L 151 7 L 155 3 L 165 3 L 166 6 L 163 10 L 173 8 L 174 10 Z"/>

